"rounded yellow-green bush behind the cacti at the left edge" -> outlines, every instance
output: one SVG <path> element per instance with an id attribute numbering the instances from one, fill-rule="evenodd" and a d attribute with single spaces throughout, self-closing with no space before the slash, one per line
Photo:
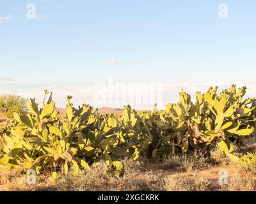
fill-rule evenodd
<path id="1" fill-rule="evenodd" d="M 11 117 L 13 113 L 26 113 L 26 99 L 11 94 L 0 95 L 0 112 Z"/>

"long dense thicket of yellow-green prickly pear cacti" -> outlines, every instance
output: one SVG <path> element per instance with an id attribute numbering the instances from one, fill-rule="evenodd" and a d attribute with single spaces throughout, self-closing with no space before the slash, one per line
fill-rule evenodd
<path id="1" fill-rule="evenodd" d="M 217 93 L 217 87 L 202 94 L 196 102 L 180 92 L 177 104 L 166 110 L 137 113 L 124 106 L 123 115 L 102 114 L 90 105 L 74 108 L 67 97 L 67 119 L 61 120 L 52 94 L 45 91 L 43 108 L 35 99 L 27 102 L 29 113 L 13 114 L 3 131 L 0 164 L 22 170 L 79 173 L 104 159 L 109 167 L 122 169 L 120 159 L 147 156 L 159 161 L 166 154 L 204 152 L 218 145 L 230 159 L 234 142 L 255 136 L 256 100 L 243 100 L 246 87 Z M 49 99 L 47 101 L 47 95 Z"/>

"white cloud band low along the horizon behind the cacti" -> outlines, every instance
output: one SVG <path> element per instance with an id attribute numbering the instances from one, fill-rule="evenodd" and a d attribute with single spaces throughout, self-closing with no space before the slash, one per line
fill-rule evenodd
<path id="1" fill-rule="evenodd" d="M 3 78 L 4 77 L 1 77 L 0 80 L 3 80 Z M 4 78 L 4 80 L 10 80 L 10 78 Z M 145 83 L 145 86 L 143 83 Z M 151 86 L 150 83 L 155 85 Z M 248 87 L 244 98 L 256 96 L 256 80 L 244 80 L 238 82 L 211 80 L 205 82 L 184 82 L 183 84 L 163 83 L 163 86 L 157 85 L 157 82 L 120 82 L 115 80 L 113 80 L 113 86 L 112 83 L 109 84 L 109 82 L 48 85 L 20 85 L 6 83 L 0 86 L 0 93 L 18 94 L 24 98 L 35 97 L 36 101 L 41 105 L 44 89 L 48 89 L 53 92 L 56 106 L 61 108 L 65 108 L 65 99 L 67 95 L 72 95 L 72 103 L 74 103 L 74 106 L 76 107 L 83 103 L 88 103 L 94 107 L 109 106 L 115 108 L 122 108 L 122 105 L 131 104 L 133 108 L 143 110 L 152 109 L 155 102 L 159 108 L 164 108 L 166 103 L 177 103 L 179 101 L 179 92 L 181 89 L 184 89 L 184 91 L 190 94 L 192 101 L 195 101 L 196 91 L 205 92 L 209 87 L 215 87 L 216 85 L 219 87 L 218 91 L 221 91 L 223 89 L 228 89 L 233 83 L 237 85 L 237 88 L 243 87 L 244 85 Z M 100 86 L 97 87 L 97 84 L 100 84 Z M 145 91 L 143 89 L 144 87 L 146 87 Z M 149 89 L 147 89 L 147 87 Z M 106 103 L 98 103 L 98 101 L 95 101 L 96 94 L 102 96 L 103 99 L 106 99 Z M 122 99 L 124 100 L 122 101 L 124 102 L 121 101 L 122 104 L 119 102 L 116 103 L 113 97 L 123 97 Z M 134 97 L 134 100 L 131 100 L 130 97 Z"/>

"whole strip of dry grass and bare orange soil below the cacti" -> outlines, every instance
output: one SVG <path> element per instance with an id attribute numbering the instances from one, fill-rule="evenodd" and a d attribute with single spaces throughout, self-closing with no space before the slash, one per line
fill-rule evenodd
<path id="1" fill-rule="evenodd" d="M 251 143 L 246 152 L 255 152 L 253 147 Z M 235 151 L 245 150 L 237 146 Z M 210 159 L 195 153 L 170 156 L 156 164 L 125 159 L 119 172 L 101 162 L 80 175 L 58 173 L 56 181 L 51 173 L 44 173 L 32 186 L 26 174 L 0 167 L 0 191 L 256 191 L 255 154 L 243 153 L 243 163 L 234 164 L 219 149 L 210 153 Z M 228 170 L 228 184 L 220 186 L 218 171 L 223 168 Z"/>

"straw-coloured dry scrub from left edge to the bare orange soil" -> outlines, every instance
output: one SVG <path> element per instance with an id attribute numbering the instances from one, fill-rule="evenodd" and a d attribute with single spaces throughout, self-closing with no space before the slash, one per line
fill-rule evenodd
<path id="1" fill-rule="evenodd" d="M 157 175 L 145 171 L 140 162 L 125 159 L 123 164 L 120 172 L 109 170 L 101 162 L 80 175 L 59 173 L 55 182 L 51 173 L 44 173 L 31 186 L 26 174 L 1 168 L 0 191 L 152 191 L 157 186 Z"/>

